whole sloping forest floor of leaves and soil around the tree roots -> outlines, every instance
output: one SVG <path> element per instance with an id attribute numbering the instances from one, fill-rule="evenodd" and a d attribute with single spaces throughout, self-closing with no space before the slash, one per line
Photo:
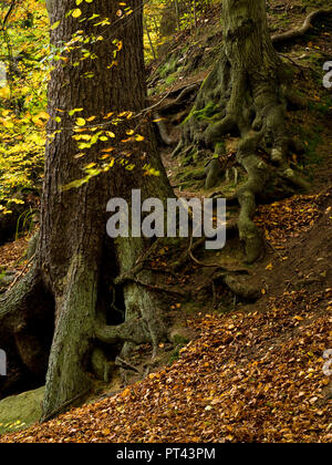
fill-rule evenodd
<path id="1" fill-rule="evenodd" d="M 291 8 L 288 1 L 270 1 L 271 31 L 300 25 L 304 3 L 292 1 Z M 205 27 L 196 40 L 184 32 L 165 50 L 166 61 L 151 64 L 153 102 L 164 99 L 163 104 L 169 104 L 177 91 L 206 76 L 220 39 L 217 13 L 201 20 Z M 291 127 L 301 127 L 307 147 L 301 159 L 293 155 L 293 162 L 311 187 L 258 208 L 264 257 L 243 264 L 236 234 L 219 252 L 195 250 L 196 261 L 189 260 L 168 279 L 175 289 L 168 318 L 177 342 L 160 344 L 162 355 L 143 380 L 133 378 L 124 389 L 117 381 L 111 390 L 102 385 L 84 405 L 0 436 L 0 442 L 332 442 L 332 373 L 323 356 L 332 349 L 332 101 L 319 83 L 321 63 L 331 53 L 328 27 L 282 49 L 286 60 L 298 68 L 294 86 L 312 102 L 308 110 L 288 115 Z M 179 56 L 185 64 L 177 66 Z M 179 120 L 189 106 L 190 100 L 168 117 L 170 137 L 178 137 Z M 236 167 L 231 143 L 229 169 Z M 204 161 L 172 158 L 170 147 L 162 149 L 177 195 L 207 195 L 204 182 L 195 177 Z M 218 186 L 227 194 L 236 188 L 229 178 Z M 237 207 L 230 208 L 228 220 L 237 214 Z M 0 268 L 24 271 L 25 249 L 25 238 L 2 246 Z M 152 266 L 166 267 L 169 254 L 160 250 Z M 222 282 L 214 281 L 214 264 L 243 269 L 237 278 L 258 289 L 259 298 L 236 298 Z M 137 360 L 131 361 L 141 361 L 142 371 L 148 350 L 137 349 Z M 20 418 L 12 430 L 17 427 Z"/>

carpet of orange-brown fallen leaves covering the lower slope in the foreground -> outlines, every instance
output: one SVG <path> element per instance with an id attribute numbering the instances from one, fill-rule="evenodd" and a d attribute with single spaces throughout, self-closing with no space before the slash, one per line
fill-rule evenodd
<path id="1" fill-rule="evenodd" d="M 0 442 L 332 442 L 332 289 L 206 314 L 172 366 Z"/>

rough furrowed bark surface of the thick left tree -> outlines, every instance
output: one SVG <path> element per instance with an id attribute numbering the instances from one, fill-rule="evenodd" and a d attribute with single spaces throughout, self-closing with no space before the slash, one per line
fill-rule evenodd
<path id="1" fill-rule="evenodd" d="M 110 112 L 136 113 L 144 108 L 146 90 L 141 0 L 133 0 L 131 7 L 134 12 L 124 19 L 123 23 L 118 22 L 120 25 L 113 32 L 113 39 L 123 42 L 116 66 L 110 69 L 113 46 L 107 38 L 96 42 L 92 50 L 90 49 L 97 55 L 96 60 L 87 60 L 77 68 L 66 64 L 56 65 L 49 87 L 51 116 L 56 115 L 55 108 L 83 107 L 84 111 L 80 113 L 80 116 L 86 118 L 93 115 L 103 116 Z M 63 0 L 53 12 L 52 22 L 62 19 L 71 8 L 72 1 Z M 83 14 L 85 9 L 90 9 L 87 12 L 91 13 L 91 7 L 84 6 Z M 95 0 L 93 2 L 93 11 L 102 18 L 110 18 L 111 22 L 117 18 L 117 10 L 118 3 L 115 1 Z M 77 27 L 77 21 L 73 18 L 62 21 L 61 25 L 52 32 L 52 42 L 69 40 Z M 103 29 L 98 31 L 98 28 L 91 24 L 84 27 L 84 32 L 85 34 L 103 33 Z M 82 76 L 86 71 L 94 73 L 93 80 Z M 100 121 L 102 122 L 102 118 Z M 72 121 L 70 117 L 62 118 L 61 124 L 70 126 Z M 86 369 L 89 355 L 93 349 L 94 322 L 96 314 L 100 313 L 96 304 L 102 300 L 98 289 L 101 281 L 106 279 L 106 276 L 101 276 L 101 269 L 104 256 L 106 256 L 105 248 L 112 247 L 111 239 L 105 238 L 107 219 L 105 207 L 108 199 L 124 197 L 129 200 L 132 188 L 141 188 L 143 198 L 146 196 L 163 198 L 169 194 L 165 172 L 153 159 L 155 155 L 153 142 L 120 143 L 125 135 L 125 130 L 129 127 L 135 128 L 134 122 L 126 122 L 114 130 L 118 137 L 115 156 L 121 157 L 122 153 L 129 153 L 131 163 L 135 164 L 134 172 L 129 173 L 118 165 L 77 189 L 61 192 L 59 186 L 82 177 L 80 173 L 82 164 L 95 162 L 102 147 L 97 144 L 91 149 L 89 159 L 85 157 L 84 162 L 74 162 L 73 155 L 76 153 L 76 147 L 72 134 L 62 131 L 46 148 L 42 227 L 38 256 L 44 281 L 49 283 L 55 296 L 56 329 L 46 376 L 44 418 L 51 416 L 71 399 L 84 393 L 90 386 Z M 152 140 L 149 126 L 141 125 L 139 132 L 144 134 L 146 141 Z M 142 154 L 147 152 L 148 155 L 143 162 Z M 152 166 L 158 168 L 160 176 L 157 178 L 143 176 L 141 168 L 145 163 L 151 163 Z M 115 277 L 117 272 L 131 269 L 144 248 L 142 238 L 136 239 L 136 244 L 132 244 L 131 239 L 115 241 L 117 264 L 115 261 L 107 264 L 108 277 Z M 143 338 L 134 338 L 134 342 L 145 342 L 146 339 L 153 341 L 162 335 L 163 324 L 160 328 L 159 323 L 154 324 L 159 314 L 156 312 L 156 302 L 149 291 L 135 283 L 128 283 L 124 287 L 124 303 L 126 320 L 124 327 L 103 327 L 98 320 L 100 332 L 108 330 L 116 333 L 116 338 L 108 339 L 111 343 L 125 342 L 129 338 L 126 329 L 131 322 L 136 326 L 137 320 L 148 321 L 149 331 L 148 334 L 144 333 Z M 106 317 L 107 314 L 104 314 L 104 322 L 106 322 Z M 98 332 L 96 335 L 103 339 Z"/>

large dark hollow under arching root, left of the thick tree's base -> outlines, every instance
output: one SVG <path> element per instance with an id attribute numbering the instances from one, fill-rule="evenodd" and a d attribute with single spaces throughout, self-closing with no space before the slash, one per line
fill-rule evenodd
<path id="1" fill-rule="evenodd" d="M 44 385 L 53 333 L 54 299 L 32 269 L 0 300 L 0 345 L 8 358 L 0 399 Z"/>

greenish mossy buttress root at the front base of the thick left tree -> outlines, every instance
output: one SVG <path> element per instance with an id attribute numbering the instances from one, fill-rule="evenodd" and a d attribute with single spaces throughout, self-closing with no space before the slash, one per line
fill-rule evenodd
<path id="1" fill-rule="evenodd" d="M 49 360 L 45 396 L 41 421 L 59 414 L 91 389 L 85 364 L 91 353 L 97 270 L 82 257 L 75 257 L 55 296 L 56 324 Z"/>

